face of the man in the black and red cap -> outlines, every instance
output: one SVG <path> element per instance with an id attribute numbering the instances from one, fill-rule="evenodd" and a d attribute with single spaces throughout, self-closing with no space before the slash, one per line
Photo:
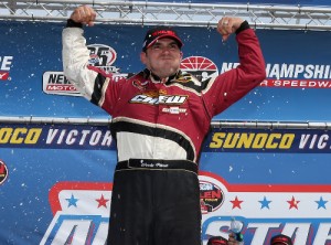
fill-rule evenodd
<path id="1" fill-rule="evenodd" d="M 166 38 L 141 52 L 140 60 L 153 74 L 164 78 L 180 68 L 182 52 L 174 40 Z"/>

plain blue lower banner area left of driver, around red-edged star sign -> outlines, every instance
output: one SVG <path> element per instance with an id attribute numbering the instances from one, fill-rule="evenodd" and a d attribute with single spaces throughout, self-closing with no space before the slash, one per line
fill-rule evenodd
<path id="1" fill-rule="evenodd" d="M 50 190 L 57 182 L 111 182 L 116 152 L 0 148 L 8 168 L 0 185 L 0 244 L 40 244 L 53 214 Z"/>

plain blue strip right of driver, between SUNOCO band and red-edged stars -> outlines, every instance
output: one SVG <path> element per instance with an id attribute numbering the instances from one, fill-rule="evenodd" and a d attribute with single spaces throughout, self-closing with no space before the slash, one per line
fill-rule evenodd
<path id="1" fill-rule="evenodd" d="M 330 183 L 329 155 L 205 153 L 200 169 L 232 183 L 325 184 Z"/>

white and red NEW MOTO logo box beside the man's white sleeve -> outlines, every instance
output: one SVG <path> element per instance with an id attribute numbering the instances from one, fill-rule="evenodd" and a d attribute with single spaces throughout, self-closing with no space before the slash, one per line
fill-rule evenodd
<path id="1" fill-rule="evenodd" d="M 43 92 L 55 95 L 81 95 L 63 72 L 45 72 L 43 74 Z"/>

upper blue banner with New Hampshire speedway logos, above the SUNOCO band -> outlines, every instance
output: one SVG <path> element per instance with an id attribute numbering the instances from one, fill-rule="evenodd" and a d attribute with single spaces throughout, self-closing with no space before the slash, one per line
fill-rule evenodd
<path id="1" fill-rule="evenodd" d="M 0 116 L 108 118 L 63 75 L 64 23 L 1 22 Z M 90 64 L 130 75 L 143 68 L 139 54 L 148 26 L 85 28 Z M 177 28 L 182 70 L 201 79 L 238 65 L 234 36 L 222 42 L 212 28 Z M 267 78 L 214 119 L 330 121 L 330 32 L 257 30 Z M 38 33 L 38 34 L 36 34 Z M 298 109 L 299 108 L 299 109 Z M 303 110 L 303 111 L 302 111 Z"/>

